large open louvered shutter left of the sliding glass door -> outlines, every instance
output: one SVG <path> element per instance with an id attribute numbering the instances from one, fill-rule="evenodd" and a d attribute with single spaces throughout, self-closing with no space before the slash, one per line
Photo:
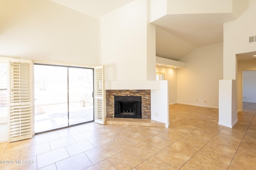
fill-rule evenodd
<path id="1" fill-rule="evenodd" d="M 32 131 L 32 62 L 10 59 L 9 142 L 28 139 Z"/>

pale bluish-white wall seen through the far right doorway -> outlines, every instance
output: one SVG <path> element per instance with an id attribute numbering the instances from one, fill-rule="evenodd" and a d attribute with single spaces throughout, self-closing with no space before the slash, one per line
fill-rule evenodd
<path id="1" fill-rule="evenodd" d="M 256 103 L 256 71 L 243 71 L 243 102 Z"/>

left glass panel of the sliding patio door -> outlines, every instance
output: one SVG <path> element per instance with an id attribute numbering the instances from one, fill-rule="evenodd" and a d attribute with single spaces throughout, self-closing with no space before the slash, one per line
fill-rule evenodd
<path id="1" fill-rule="evenodd" d="M 68 126 L 68 68 L 34 64 L 35 133 Z"/>

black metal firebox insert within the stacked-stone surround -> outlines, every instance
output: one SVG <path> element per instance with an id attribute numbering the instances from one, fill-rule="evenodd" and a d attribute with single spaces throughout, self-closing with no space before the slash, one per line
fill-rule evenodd
<path id="1" fill-rule="evenodd" d="M 115 96 L 114 117 L 142 118 L 141 96 Z"/>

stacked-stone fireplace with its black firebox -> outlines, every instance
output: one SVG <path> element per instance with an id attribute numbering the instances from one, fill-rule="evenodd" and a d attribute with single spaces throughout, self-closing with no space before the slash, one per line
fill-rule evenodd
<path id="1" fill-rule="evenodd" d="M 106 117 L 151 119 L 150 108 L 150 90 L 106 90 Z"/>

